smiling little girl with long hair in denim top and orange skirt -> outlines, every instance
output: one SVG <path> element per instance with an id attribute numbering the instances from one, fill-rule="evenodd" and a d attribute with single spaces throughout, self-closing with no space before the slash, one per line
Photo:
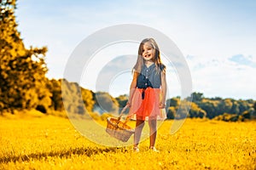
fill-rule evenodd
<path id="1" fill-rule="evenodd" d="M 160 50 L 153 38 L 144 39 L 138 48 L 137 63 L 133 67 L 133 79 L 127 106 L 129 117 L 136 115 L 134 148 L 139 151 L 138 144 L 143 131 L 144 121 L 148 117 L 150 145 L 154 147 L 156 139 L 156 121 L 161 116 L 166 101 L 166 66 L 161 63 Z"/>

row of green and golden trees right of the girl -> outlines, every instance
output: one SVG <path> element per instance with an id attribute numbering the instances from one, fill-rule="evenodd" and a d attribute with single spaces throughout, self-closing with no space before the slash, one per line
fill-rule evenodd
<path id="1" fill-rule="evenodd" d="M 223 120 L 227 122 L 244 121 L 246 119 L 256 118 L 256 102 L 253 99 L 222 99 L 206 98 L 202 93 L 193 93 L 190 97 L 181 100 L 179 97 L 168 99 L 170 107 L 167 111 L 168 118 L 183 118 L 189 116 L 190 118 L 209 118 L 216 120 Z M 187 102 L 190 106 L 189 111 L 181 110 L 178 115 L 178 107 L 181 102 Z M 187 114 L 187 115 L 186 115 Z"/>

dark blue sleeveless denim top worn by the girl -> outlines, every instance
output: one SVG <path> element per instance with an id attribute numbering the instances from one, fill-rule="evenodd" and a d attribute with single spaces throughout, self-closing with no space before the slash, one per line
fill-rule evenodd
<path id="1" fill-rule="evenodd" d="M 156 71 L 156 66 L 150 65 L 147 67 L 143 65 L 142 71 L 137 77 L 137 88 L 160 88 L 161 85 L 161 71 L 165 65 L 160 65 L 160 71 Z"/>

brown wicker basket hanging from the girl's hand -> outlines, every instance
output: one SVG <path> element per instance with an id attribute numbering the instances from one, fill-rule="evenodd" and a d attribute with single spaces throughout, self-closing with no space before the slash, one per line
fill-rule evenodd
<path id="1" fill-rule="evenodd" d="M 120 121 L 120 118 L 123 115 L 122 113 L 118 118 L 108 117 L 106 132 L 115 139 L 127 142 L 128 139 L 130 139 L 131 134 L 134 133 L 134 129 Z"/>

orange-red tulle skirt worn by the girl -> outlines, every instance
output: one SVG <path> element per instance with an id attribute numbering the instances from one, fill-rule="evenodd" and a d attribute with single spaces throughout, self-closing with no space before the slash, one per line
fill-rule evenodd
<path id="1" fill-rule="evenodd" d="M 143 96 L 144 95 L 144 96 Z M 143 97 L 142 97 L 143 96 Z M 129 116 L 139 120 L 156 119 L 160 116 L 160 88 L 136 88 L 131 101 Z"/>

